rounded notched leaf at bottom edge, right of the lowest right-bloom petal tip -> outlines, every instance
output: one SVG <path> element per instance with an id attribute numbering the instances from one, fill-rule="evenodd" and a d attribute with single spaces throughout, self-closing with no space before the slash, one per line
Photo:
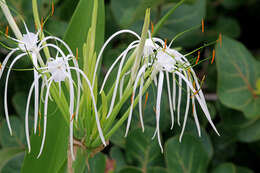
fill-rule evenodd
<path id="1" fill-rule="evenodd" d="M 166 142 L 165 158 L 169 172 L 203 173 L 209 163 L 202 144 L 188 134 L 184 134 L 181 143 L 178 137 L 170 138 Z"/>

